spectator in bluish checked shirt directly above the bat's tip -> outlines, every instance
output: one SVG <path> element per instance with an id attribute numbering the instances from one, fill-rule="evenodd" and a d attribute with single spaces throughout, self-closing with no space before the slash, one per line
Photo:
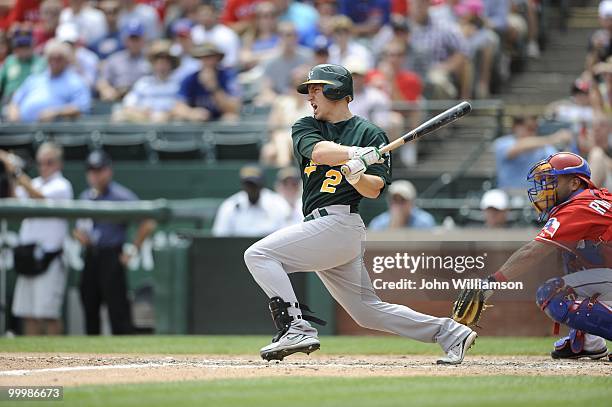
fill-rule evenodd
<path id="1" fill-rule="evenodd" d="M 410 35 L 415 71 L 433 88 L 432 97 L 469 99 L 473 78 L 465 41 L 457 30 L 433 21 L 428 11 L 429 0 L 412 1 Z"/>

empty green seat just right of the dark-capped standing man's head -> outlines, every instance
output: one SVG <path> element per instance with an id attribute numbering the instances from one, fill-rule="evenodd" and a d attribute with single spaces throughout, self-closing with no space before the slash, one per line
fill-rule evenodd
<path id="1" fill-rule="evenodd" d="M 155 131 L 150 126 L 111 124 L 95 137 L 97 148 L 106 151 L 117 161 L 148 161 L 151 159 L 149 142 Z"/>

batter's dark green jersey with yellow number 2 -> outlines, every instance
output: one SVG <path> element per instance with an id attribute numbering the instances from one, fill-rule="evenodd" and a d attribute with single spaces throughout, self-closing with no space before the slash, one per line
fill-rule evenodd
<path id="1" fill-rule="evenodd" d="M 385 132 L 359 116 L 338 123 L 303 117 L 293 125 L 291 137 L 304 184 L 304 215 L 329 205 L 350 205 L 356 212 L 363 196 L 344 178 L 341 165 L 331 167 L 313 162 L 312 150 L 321 141 L 343 146 L 381 147 L 389 143 Z M 391 184 L 391 155 L 385 157 L 384 163 L 368 167 L 366 174 L 378 175 L 385 184 Z"/>

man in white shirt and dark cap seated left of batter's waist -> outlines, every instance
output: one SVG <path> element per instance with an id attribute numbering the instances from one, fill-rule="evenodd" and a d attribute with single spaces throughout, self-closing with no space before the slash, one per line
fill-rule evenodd
<path id="1" fill-rule="evenodd" d="M 214 236 L 266 236 L 287 225 L 291 208 L 285 199 L 264 187 L 259 167 L 240 170 L 242 191 L 227 198 L 217 211 Z"/>

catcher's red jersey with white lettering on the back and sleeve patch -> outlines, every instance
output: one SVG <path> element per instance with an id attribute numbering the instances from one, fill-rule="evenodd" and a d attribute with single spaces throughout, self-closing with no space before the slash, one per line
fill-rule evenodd
<path id="1" fill-rule="evenodd" d="M 557 205 L 535 240 L 563 250 L 566 273 L 612 268 L 612 194 L 587 189 Z"/>

